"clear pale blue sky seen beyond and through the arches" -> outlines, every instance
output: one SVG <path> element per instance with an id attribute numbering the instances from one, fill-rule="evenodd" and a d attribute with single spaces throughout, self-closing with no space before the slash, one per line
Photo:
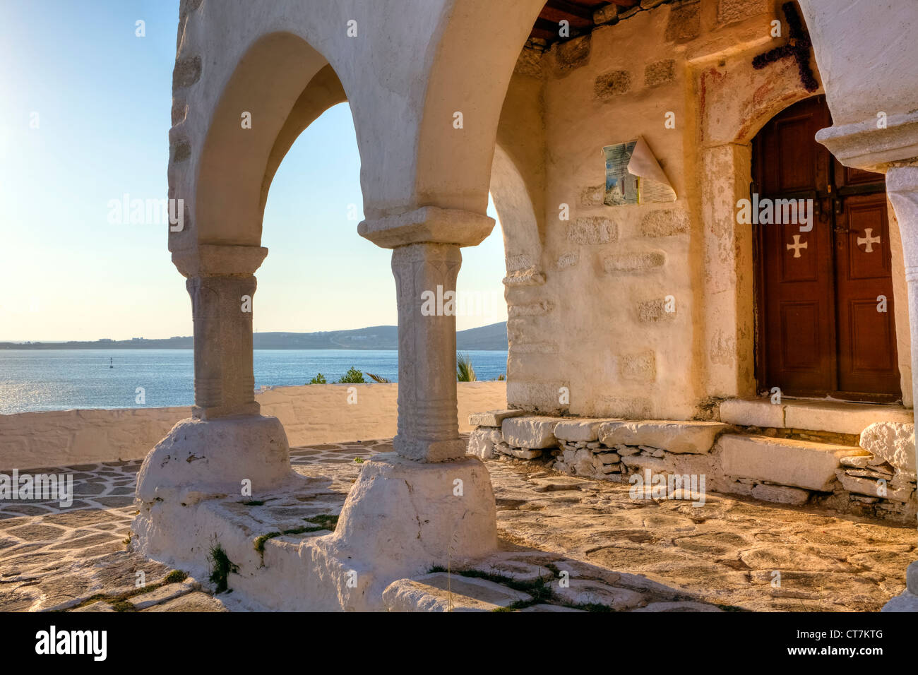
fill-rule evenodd
<path id="1" fill-rule="evenodd" d="M 166 196 L 177 19 L 178 0 L 0 0 L 0 340 L 191 334 L 165 227 L 108 220 L 109 200 Z M 258 331 L 396 323 L 390 252 L 357 235 L 349 204 L 362 198 L 345 104 L 274 178 Z M 499 226 L 463 258 L 459 291 L 487 301 L 458 328 L 505 321 Z"/>

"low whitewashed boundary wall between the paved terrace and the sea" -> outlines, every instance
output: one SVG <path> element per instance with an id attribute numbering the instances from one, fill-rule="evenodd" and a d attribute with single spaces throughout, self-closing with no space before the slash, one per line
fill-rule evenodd
<path id="1" fill-rule="evenodd" d="M 507 407 L 506 382 L 457 387 L 461 432 L 472 429 L 469 413 Z M 263 415 L 284 424 L 295 446 L 391 438 L 397 432 L 397 395 L 397 384 L 308 385 L 268 389 L 255 399 Z M 0 471 L 142 459 L 189 415 L 187 407 L 0 415 Z"/>

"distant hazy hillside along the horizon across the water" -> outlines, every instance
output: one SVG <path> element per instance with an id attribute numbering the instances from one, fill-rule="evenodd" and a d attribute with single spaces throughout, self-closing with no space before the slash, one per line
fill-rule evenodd
<path id="1" fill-rule="evenodd" d="M 256 332 L 255 349 L 398 349 L 396 326 L 370 326 L 353 331 Z M 96 340 L 66 343 L 0 343 L 0 349 L 192 349 L 191 337 L 163 340 Z M 456 349 L 507 351 L 507 322 L 456 332 Z"/>

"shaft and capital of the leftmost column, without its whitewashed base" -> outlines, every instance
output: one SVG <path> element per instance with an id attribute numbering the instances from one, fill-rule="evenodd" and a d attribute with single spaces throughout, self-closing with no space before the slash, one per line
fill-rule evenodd
<path id="1" fill-rule="evenodd" d="M 173 255 L 187 277 L 195 324 L 196 419 L 260 411 L 252 370 L 252 298 L 253 273 L 265 254 L 258 246 L 201 245 Z"/>

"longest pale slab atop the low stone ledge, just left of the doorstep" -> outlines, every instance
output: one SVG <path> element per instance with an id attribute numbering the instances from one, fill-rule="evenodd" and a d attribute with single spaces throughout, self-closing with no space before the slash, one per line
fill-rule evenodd
<path id="1" fill-rule="evenodd" d="M 671 453 L 704 454 L 729 427 L 720 422 L 665 420 L 606 422 L 599 428 L 603 445 L 649 445 Z"/>

